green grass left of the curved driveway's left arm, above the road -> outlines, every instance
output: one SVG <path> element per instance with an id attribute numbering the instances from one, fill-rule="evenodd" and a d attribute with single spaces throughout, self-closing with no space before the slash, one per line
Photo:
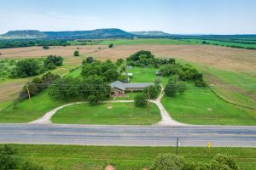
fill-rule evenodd
<path id="1" fill-rule="evenodd" d="M 16 105 L 0 111 L 0 122 L 32 122 L 38 119 L 47 111 L 51 111 L 60 105 L 71 103 L 73 101 L 82 101 L 83 99 L 57 100 L 48 95 L 48 90 L 32 97 L 32 109 L 28 99 L 25 99 Z"/>

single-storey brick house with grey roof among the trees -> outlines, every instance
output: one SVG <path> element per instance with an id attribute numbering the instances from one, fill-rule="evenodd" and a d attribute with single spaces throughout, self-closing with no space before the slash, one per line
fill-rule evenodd
<path id="1" fill-rule="evenodd" d="M 152 82 L 120 82 L 115 81 L 110 83 L 111 96 L 120 97 L 125 96 L 125 92 L 143 91 L 148 86 L 154 85 Z"/>

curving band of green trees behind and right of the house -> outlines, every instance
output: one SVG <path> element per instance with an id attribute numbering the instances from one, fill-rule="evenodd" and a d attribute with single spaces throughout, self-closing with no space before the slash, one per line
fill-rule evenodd
<path id="1" fill-rule="evenodd" d="M 206 87 L 203 74 L 195 69 L 193 65 L 181 64 L 176 59 L 155 58 L 150 51 L 138 51 L 126 59 L 127 65 L 159 68 L 159 76 L 169 77 L 165 92 L 168 96 L 184 94 L 185 82 L 193 82 L 197 87 Z"/>

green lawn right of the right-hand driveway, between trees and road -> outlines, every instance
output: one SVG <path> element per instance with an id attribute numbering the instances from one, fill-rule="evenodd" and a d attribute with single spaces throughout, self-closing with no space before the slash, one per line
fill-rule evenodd
<path id="1" fill-rule="evenodd" d="M 219 99 L 209 88 L 188 85 L 185 94 L 164 96 L 162 104 L 178 122 L 202 125 L 256 125 L 256 111 L 244 111 Z"/>

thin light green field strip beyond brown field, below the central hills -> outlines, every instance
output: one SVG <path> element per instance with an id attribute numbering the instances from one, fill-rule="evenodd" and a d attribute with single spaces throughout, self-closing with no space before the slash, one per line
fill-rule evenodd
<path id="1" fill-rule="evenodd" d="M 99 45 L 139 45 L 139 44 L 159 44 L 159 45 L 185 45 L 185 44 L 198 44 L 197 42 L 185 42 L 182 40 L 174 40 L 168 38 L 137 38 L 137 39 L 114 39 L 102 40 L 98 42 Z"/>

